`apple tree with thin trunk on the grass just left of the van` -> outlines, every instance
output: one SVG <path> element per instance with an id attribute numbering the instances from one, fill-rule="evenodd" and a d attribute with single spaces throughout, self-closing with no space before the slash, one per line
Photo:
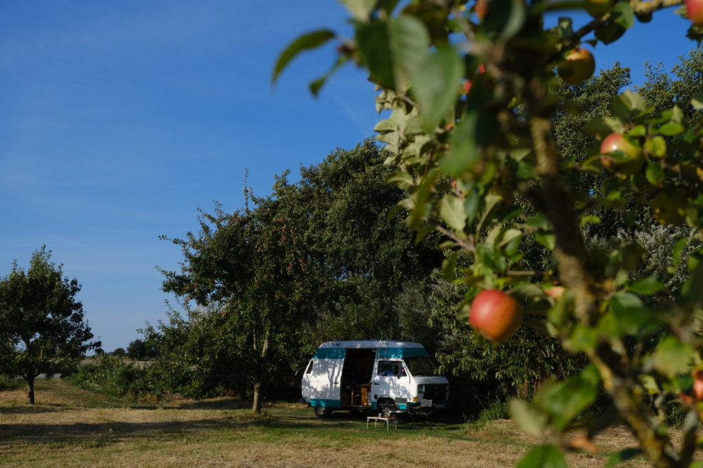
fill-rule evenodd
<path id="1" fill-rule="evenodd" d="M 198 233 L 163 237 L 181 247 L 183 262 L 179 271 L 162 271 L 162 289 L 215 311 L 207 320 L 218 336 L 209 339 L 207 360 L 234 361 L 259 414 L 273 376 L 302 341 L 314 314 L 308 304 L 325 286 L 285 201 L 254 201 L 254 209 L 247 202 L 234 213 L 218 204 L 214 214 L 200 212 Z"/>

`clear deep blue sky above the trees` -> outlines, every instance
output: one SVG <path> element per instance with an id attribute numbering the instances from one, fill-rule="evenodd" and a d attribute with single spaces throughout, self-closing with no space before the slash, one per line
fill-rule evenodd
<path id="1" fill-rule="evenodd" d="M 302 32 L 348 32 L 333 0 L 0 0 L 0 275 L 46 244 L 83 285 L 106 350 L 165 318 L 156 266 L 180 251 L 158 235 L 197 229 L 214 200 L 243 206 L 243 179 L 321 162 L 370 136 L 373 86 L 347 67 L 312 98 L 330 49 L 301 56 L 275 89 L 276 56 Z M 588 18 L 579 16 L 576 26 Z M 643 81 L 695 43 L 673 11 L 594 53 Z"/>

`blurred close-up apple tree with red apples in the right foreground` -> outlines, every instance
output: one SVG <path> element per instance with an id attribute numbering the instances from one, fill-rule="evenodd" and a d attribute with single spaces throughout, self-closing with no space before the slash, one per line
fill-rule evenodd
<path id="1" fill-rule="evenodd" d="M 698 3 L 687 1 L 688 36 L 700 40 Z M 591 47 L 683 1 L 342 4 L 353 37 L 303 34 L 280 54 L 273 80 L 298 53 L 337 41 L 332 69 L 311 91 L 344 63 L 368 71 L 384 117 L 374 130 L 395 168 L 389 183 L 405 190 L 399 206 L 406 222 L 420 238 L 444 235 L 446 277 L 470 286 L 459 318 L 470 316 L 482 291 L 502 291 L 535 330 L 588 359 L 578 375 L 543 384 L 531 403 L 512 402 L 517 423 L 546 441 L 520 466 L 565 466 L 560 447 L 576 445 L 565 434 L 602 389 L 639 441 L 614 462 L 642 453 L 657 467 L 689 466 L 703 415 L 703 250 L 690 252 L 690 239 L 682 238 L 655 273 L 636 242 L 611 235 L 594 244 L 583 233 L 623 215 L 630 223 L 641 216 L 688 225 L 700 237 L 703 96 L 660 109 L 638 93 L 621 93 L 607 115 L 574 129 L 593 137 L 585 158 L 562 153 L 554 123 L 565 108 L 580 112 L 557 91 L 590 77 L 598 56 Z M 581 8 L 593 18 L 586 24 L 575 27 L 563 16 L 545 26 L 546 15 Z M 548 254 L 543 268 L 526 261 L 534 246 Z M 688 273 L 672 285 L 682 262 Z M 677 445 L 666 431 L 672 411 L 685 414 Z M 592 447 L 610 422 L 593 422 L 578 445 Z"/>

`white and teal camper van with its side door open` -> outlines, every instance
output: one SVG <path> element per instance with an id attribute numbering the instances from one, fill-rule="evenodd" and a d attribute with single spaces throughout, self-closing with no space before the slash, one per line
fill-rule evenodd
<path id="1" fill-rule="evenodd" d="M 318 417 L 333 410 L 378 410 L 404 398 L 404 404 L 432 400 L 441 409 L 449 398 L 449 382 L 422 344 L 390 341 L 321 344 L 302 376 L 302 401 Z"/>

